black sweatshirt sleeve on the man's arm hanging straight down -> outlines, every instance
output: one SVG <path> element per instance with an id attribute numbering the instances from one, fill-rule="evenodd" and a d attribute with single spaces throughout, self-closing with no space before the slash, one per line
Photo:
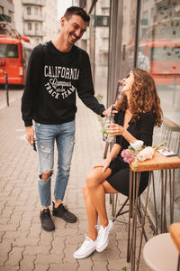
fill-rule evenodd
<path id="1" fill-rule="evenodd" d="M 43 69 L 42 58 L 43 51 L 41 50 L 41 46 L 38 45 L 31 51 L 22 97 L 22 116 L 25 126 L 32 126 L 33 110 L 36 106 L 35 101 Z"/>

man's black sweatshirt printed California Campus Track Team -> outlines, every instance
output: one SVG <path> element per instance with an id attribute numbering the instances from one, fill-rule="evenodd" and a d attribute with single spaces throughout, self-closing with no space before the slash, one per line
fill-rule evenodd
<path id="1" fill-rule="evenodd" d="M 86 107 L 102 115 L 105 108 L 94 98 L 86 51 L 73 45 L 71 51 L 61 52 L 52 42 L 46 49 L 39 44 L 31 52 L 22 98 L 25 126 L 32 126 L 32 119 L 47 125 L 74 120 L 76 92 Z"/>

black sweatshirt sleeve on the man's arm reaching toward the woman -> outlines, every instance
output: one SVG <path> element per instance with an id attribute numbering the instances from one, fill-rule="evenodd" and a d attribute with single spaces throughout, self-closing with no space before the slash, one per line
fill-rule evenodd
<path id="1" fill-rule="evenodd" d="M 82 51 L 80 62 L 80 75 L 77 87 L 78 97 L 81 98 L 86 107 L 89 107 L 96 114 L 102 116 L 105 108 L 94 97 L 94 85 L 92 79 L 91 65 L 89 61 L 89 56 L 86 51 Z"/>

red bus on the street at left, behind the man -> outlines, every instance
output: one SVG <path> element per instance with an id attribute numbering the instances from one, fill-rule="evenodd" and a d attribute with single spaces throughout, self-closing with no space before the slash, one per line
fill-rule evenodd
<path id="1" fill-rule="evenodd" d="M 6 72 L 8 84 L 24 85 L 32 48 L 28 37 L 0 32 L 0 84 L 4 84 Z"/>

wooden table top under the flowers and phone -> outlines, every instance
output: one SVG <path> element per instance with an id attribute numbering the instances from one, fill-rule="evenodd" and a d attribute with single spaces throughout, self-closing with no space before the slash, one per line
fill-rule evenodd
<path id="1" fill-rule="evenodd" d="M 152 159 L 138 162 L 137 166 L 134 166 L 134 163 L 132 162 L 130 163 L 130 168 L 133 172 L 180 168 L 180 158 L 178 156 L 166 157 L 163 154 L 159 154 L 157 151 L 155 151 Z"/>

